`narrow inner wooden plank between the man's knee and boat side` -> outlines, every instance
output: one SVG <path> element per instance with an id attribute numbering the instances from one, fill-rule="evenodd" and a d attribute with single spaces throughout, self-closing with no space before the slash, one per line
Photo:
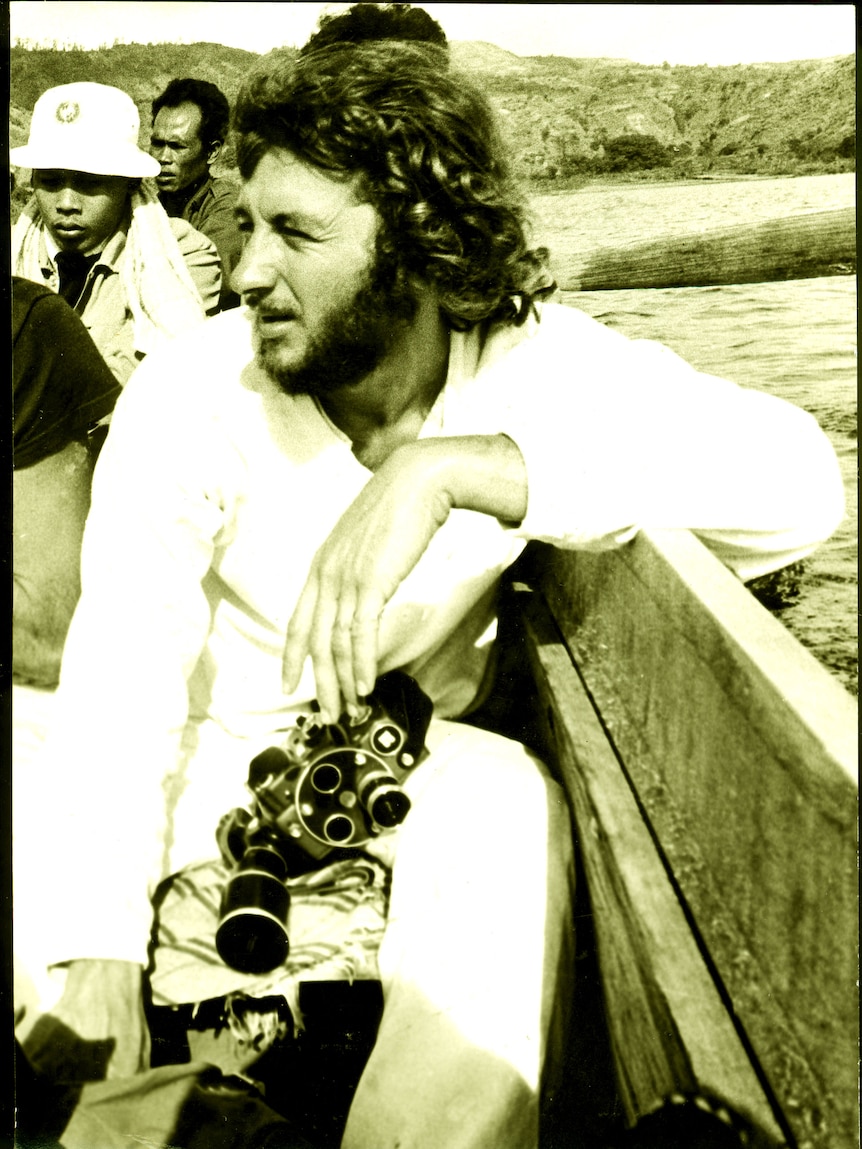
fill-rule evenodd
<path id="1" fill-rule="evenodd" d="M 633 1123 L 676 1090 L 708 1090 L 784 1144 L 571 658 L 538 596 L 528 595 L 522 609 L 526 651 L 587 874 L 626 1115 Z"/>

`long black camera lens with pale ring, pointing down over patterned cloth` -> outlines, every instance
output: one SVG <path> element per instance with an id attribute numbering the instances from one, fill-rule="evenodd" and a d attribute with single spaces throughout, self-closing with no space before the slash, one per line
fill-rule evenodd
<path id="1" fill-rule="evenodd" d="M 243 973 L 267 973 L 290 950 L 287 911 L 291 895 L 284 858 L 269 846 L 253 846 L 228 879 L 222 895 L 216 949 Z"/>

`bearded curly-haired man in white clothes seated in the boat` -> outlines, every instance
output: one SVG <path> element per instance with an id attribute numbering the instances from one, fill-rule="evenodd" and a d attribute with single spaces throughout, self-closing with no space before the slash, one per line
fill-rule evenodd
<path id="1" fill-rule="evenodd" d="M 292 955 L 253 988 L 382 981 L 344 1146 L 534 1147 L 571 988 L 571 839 L 541 763 L 461 720 L 500 578 L 530 539 L 607 548 L 645 525 L 699 531 L 752 577 L 833 530 L 837 462 L 803 411 L 546 301 L 492 113 L 441 49 L 264 67 L 236 126 L 244 307 L 144 363 L 97 473 L 43 764 L 55 1017 L 115 1043 L 109 1072 L 143 1067 L 166 881 L 147 993 L 251 992 L 205 954 L 216 825 L 311 700 L 361 719 L 399 669 L 434 708 L 411 809 L 362 854 L 362 899 L 339 885 L 356 859 L 315 872 L 325 896 L 292 884 Z M 45 1069 L 59 1048 L 28 1051 Z"/>

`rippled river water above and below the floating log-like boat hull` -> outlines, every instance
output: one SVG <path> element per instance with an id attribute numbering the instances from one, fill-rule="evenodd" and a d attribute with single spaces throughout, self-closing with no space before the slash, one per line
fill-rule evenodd
<path id="1" fill-rule="evenodd" d="M 553 253 L 855 203 L 855 176 L 588 186 L 533 198 L 537 239 Z M 810 411 L 838 454 L 847 514 L 806 560 L 778 617 L 857 693 L 856 277 L 648 291 L 564 292 L 626 334 L 657 339 L 693 365 Z"/>

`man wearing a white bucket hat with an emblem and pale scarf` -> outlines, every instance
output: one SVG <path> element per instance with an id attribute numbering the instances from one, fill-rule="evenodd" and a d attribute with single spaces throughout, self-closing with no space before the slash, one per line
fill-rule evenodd
<path id="1" fill-rule="evenodd" d="M 139 126 L 120 88 L 63 84 L 39 97 L 28 142 L 9 153 L 34 192 L 13 228 L 13 273 L 66 299 L 121 384 L 214 311 L 222 283 L 214 245 L 159 203 Z"/>

